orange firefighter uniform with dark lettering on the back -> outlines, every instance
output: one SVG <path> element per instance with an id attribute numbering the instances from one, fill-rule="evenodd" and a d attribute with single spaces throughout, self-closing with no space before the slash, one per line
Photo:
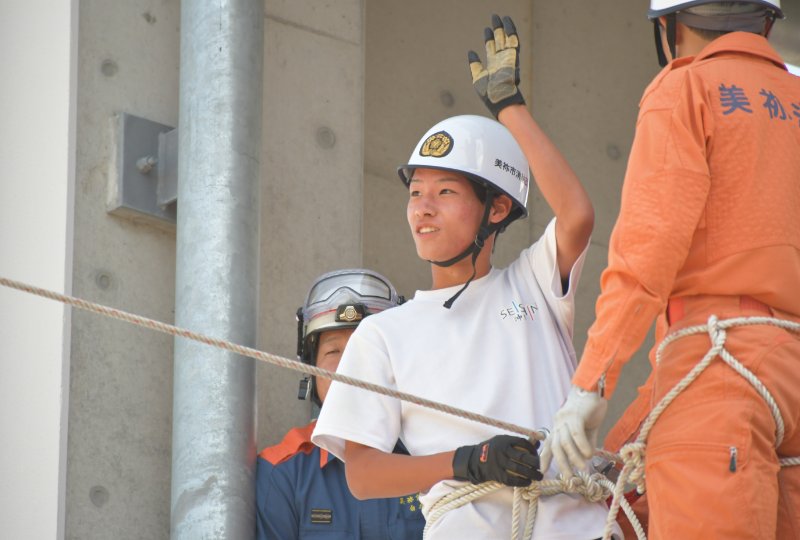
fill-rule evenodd
<path id="1" fill-rule="evenodd" d="M 800 78 L 765 38 L 726 34 L 645 91 L 601 286 L 573 382 L 606 397 L 657 316 L 666 333 L 711 314 L 800 322 Z M 710 346 L 708 335 L 670 344 L 652 403 Z M 800 456 L 800 337 L 748 326 L 726 347 L 772 393 L 785 436 L 778 444 L 764 399 L 715 360 L 648 438 L 651 538 L 800 537 L 800 467 L 778 473 L 779 457 Z M 646 403 L 640 394 L 615 444 Z"/>

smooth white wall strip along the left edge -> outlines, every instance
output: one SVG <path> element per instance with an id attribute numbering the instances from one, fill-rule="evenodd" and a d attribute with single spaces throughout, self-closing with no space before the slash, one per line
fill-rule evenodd
<path id="1" fill-rule="evenodd" d="M 0 276 L 71 292 L 77 2 L 0 4 Z M 0 536 L 64 531 L 70 312 L 0 287 Z"/>

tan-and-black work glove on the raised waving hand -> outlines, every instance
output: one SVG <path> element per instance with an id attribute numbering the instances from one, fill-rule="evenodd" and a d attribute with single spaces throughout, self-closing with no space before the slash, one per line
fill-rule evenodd
<path id="1" fill-rule="evenodd" d="M 486 67 L 475 51 L 467 53 L 472 86 L 497 118 L 509 105 L 524 105 L 519 91 L 519 38 L 510 17 L 492 15 L 492 28 L 483 31 Z"/>

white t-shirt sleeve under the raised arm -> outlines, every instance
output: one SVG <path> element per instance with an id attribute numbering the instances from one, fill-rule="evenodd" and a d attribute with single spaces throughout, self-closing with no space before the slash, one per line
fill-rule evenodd
<path id="1" fill-rule="evenodd" d="M 553 218 L 547 224 L 541 238 L 528 248 L 528 262 L 548 306 L 556 315 L 562 330 L 572 339 L 575 322 L 575 292 L 578 289 L 583 263 L 586 260 L 586 252 L 589 251 L 589 242 L 586 243 L 583 252 L 569 271 L 569 288 L 566 292 L 561 287 L 557 251 L 556 218 Z"/>

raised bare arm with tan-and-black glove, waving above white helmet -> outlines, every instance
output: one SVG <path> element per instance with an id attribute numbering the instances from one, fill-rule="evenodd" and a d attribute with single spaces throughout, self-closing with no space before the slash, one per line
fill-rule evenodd
<path id="1" fill-rule="evenodd" d="M 594 208 L 575 171 L 542 131 L 519 91 L 519 38 L 513 21 L 492 15 L 484 30 L 486 66 L 470 51 L 472 83 L 489 111 L 522 148 L 534 181 L 556 216 L 558 268 L 566 280 L 586 248 L 594 227 Z"/>

